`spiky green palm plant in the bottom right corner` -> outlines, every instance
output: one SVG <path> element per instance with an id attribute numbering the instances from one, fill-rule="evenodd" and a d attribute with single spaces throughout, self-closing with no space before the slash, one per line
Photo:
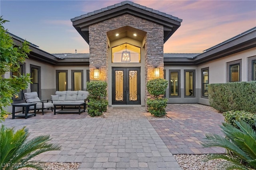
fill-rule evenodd
<path id="1" fill-rule="evenodd" d="M 230 164 L 226 170 L 255 170 L 256 169 L 256 132 L 244 121 L 235 121 L 236 128 L 228 123 L 222 123 L 225 137 L 216 134 L 206 134 L 204 147 L 222 147 L 231 154 L 211 154 L 208 159 L 224 159 Z M 256 124 L 256 122 L 255 122 Z"/>

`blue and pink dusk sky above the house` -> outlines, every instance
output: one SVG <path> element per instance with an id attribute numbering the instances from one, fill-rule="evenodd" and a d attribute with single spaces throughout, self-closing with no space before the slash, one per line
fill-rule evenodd
<path id="1" fill-rule="evenodd" d="M 164 53 L 202 53 L 256 27 L 255 0 L 130 0 L 182 19 L 164 44 Z M 0 0 L 8 31 L 48 53 L 89 53 L 89 45 L 72 26 L 71 18 L 122 1 Z"/>

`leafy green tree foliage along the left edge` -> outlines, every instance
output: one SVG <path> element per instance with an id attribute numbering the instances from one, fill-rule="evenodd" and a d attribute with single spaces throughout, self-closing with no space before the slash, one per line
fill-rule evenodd
<path id="1" fill-rule="evenodd" d="M 7 22 L 2 16 L 0 17 L 0 120 L 4 120 L 8 112 L 4 107 L 12 103 L 12 97 L 18 96 L 21 90 L 28 87 L 30 83 L 30 74 L 12 76 L 4 78 L 6 72 L 18 72 L 20 63 L 24 63 L 30 52 L 28 43 L 24 41 L 22 47 L 14 45 L 12 37 L 6 33 L 8 31 L 3 24 Z M 20 74 L 20 73 L 19 73 Z"/>

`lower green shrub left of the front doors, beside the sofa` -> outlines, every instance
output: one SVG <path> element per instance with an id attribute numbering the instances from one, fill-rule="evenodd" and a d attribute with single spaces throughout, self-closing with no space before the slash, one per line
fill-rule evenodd
<path id="1" fill-rule="evenodd" d="M 106 112 L 108 108 L 108 100 L 106 99 L 90 99 L 90 102 L 88 103 L 88 114 L 91 117 L 94 116 L 100 116 L 102 115 L 102 112 Z"/>

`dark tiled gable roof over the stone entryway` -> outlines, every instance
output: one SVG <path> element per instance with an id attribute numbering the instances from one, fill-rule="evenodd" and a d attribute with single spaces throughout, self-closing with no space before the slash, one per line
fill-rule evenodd
<path id="1" fill-rule="evenodd" d="M 89 44 L 89 30 L 88 27 L 95 23 L 99 23 L 111 18 L 121 16 L 124 14 L 130 14 L 138 18 L 152 21 L 164 26 L 164 43 L 170 38 L 170 36 L 180 27 L 181 19 L 172 15 L 141 6 L 131 1 L 124 1 L 100 10 L 95 10 L 75 18 L 72 18 L 73 26 L 78 33 Z"/>

